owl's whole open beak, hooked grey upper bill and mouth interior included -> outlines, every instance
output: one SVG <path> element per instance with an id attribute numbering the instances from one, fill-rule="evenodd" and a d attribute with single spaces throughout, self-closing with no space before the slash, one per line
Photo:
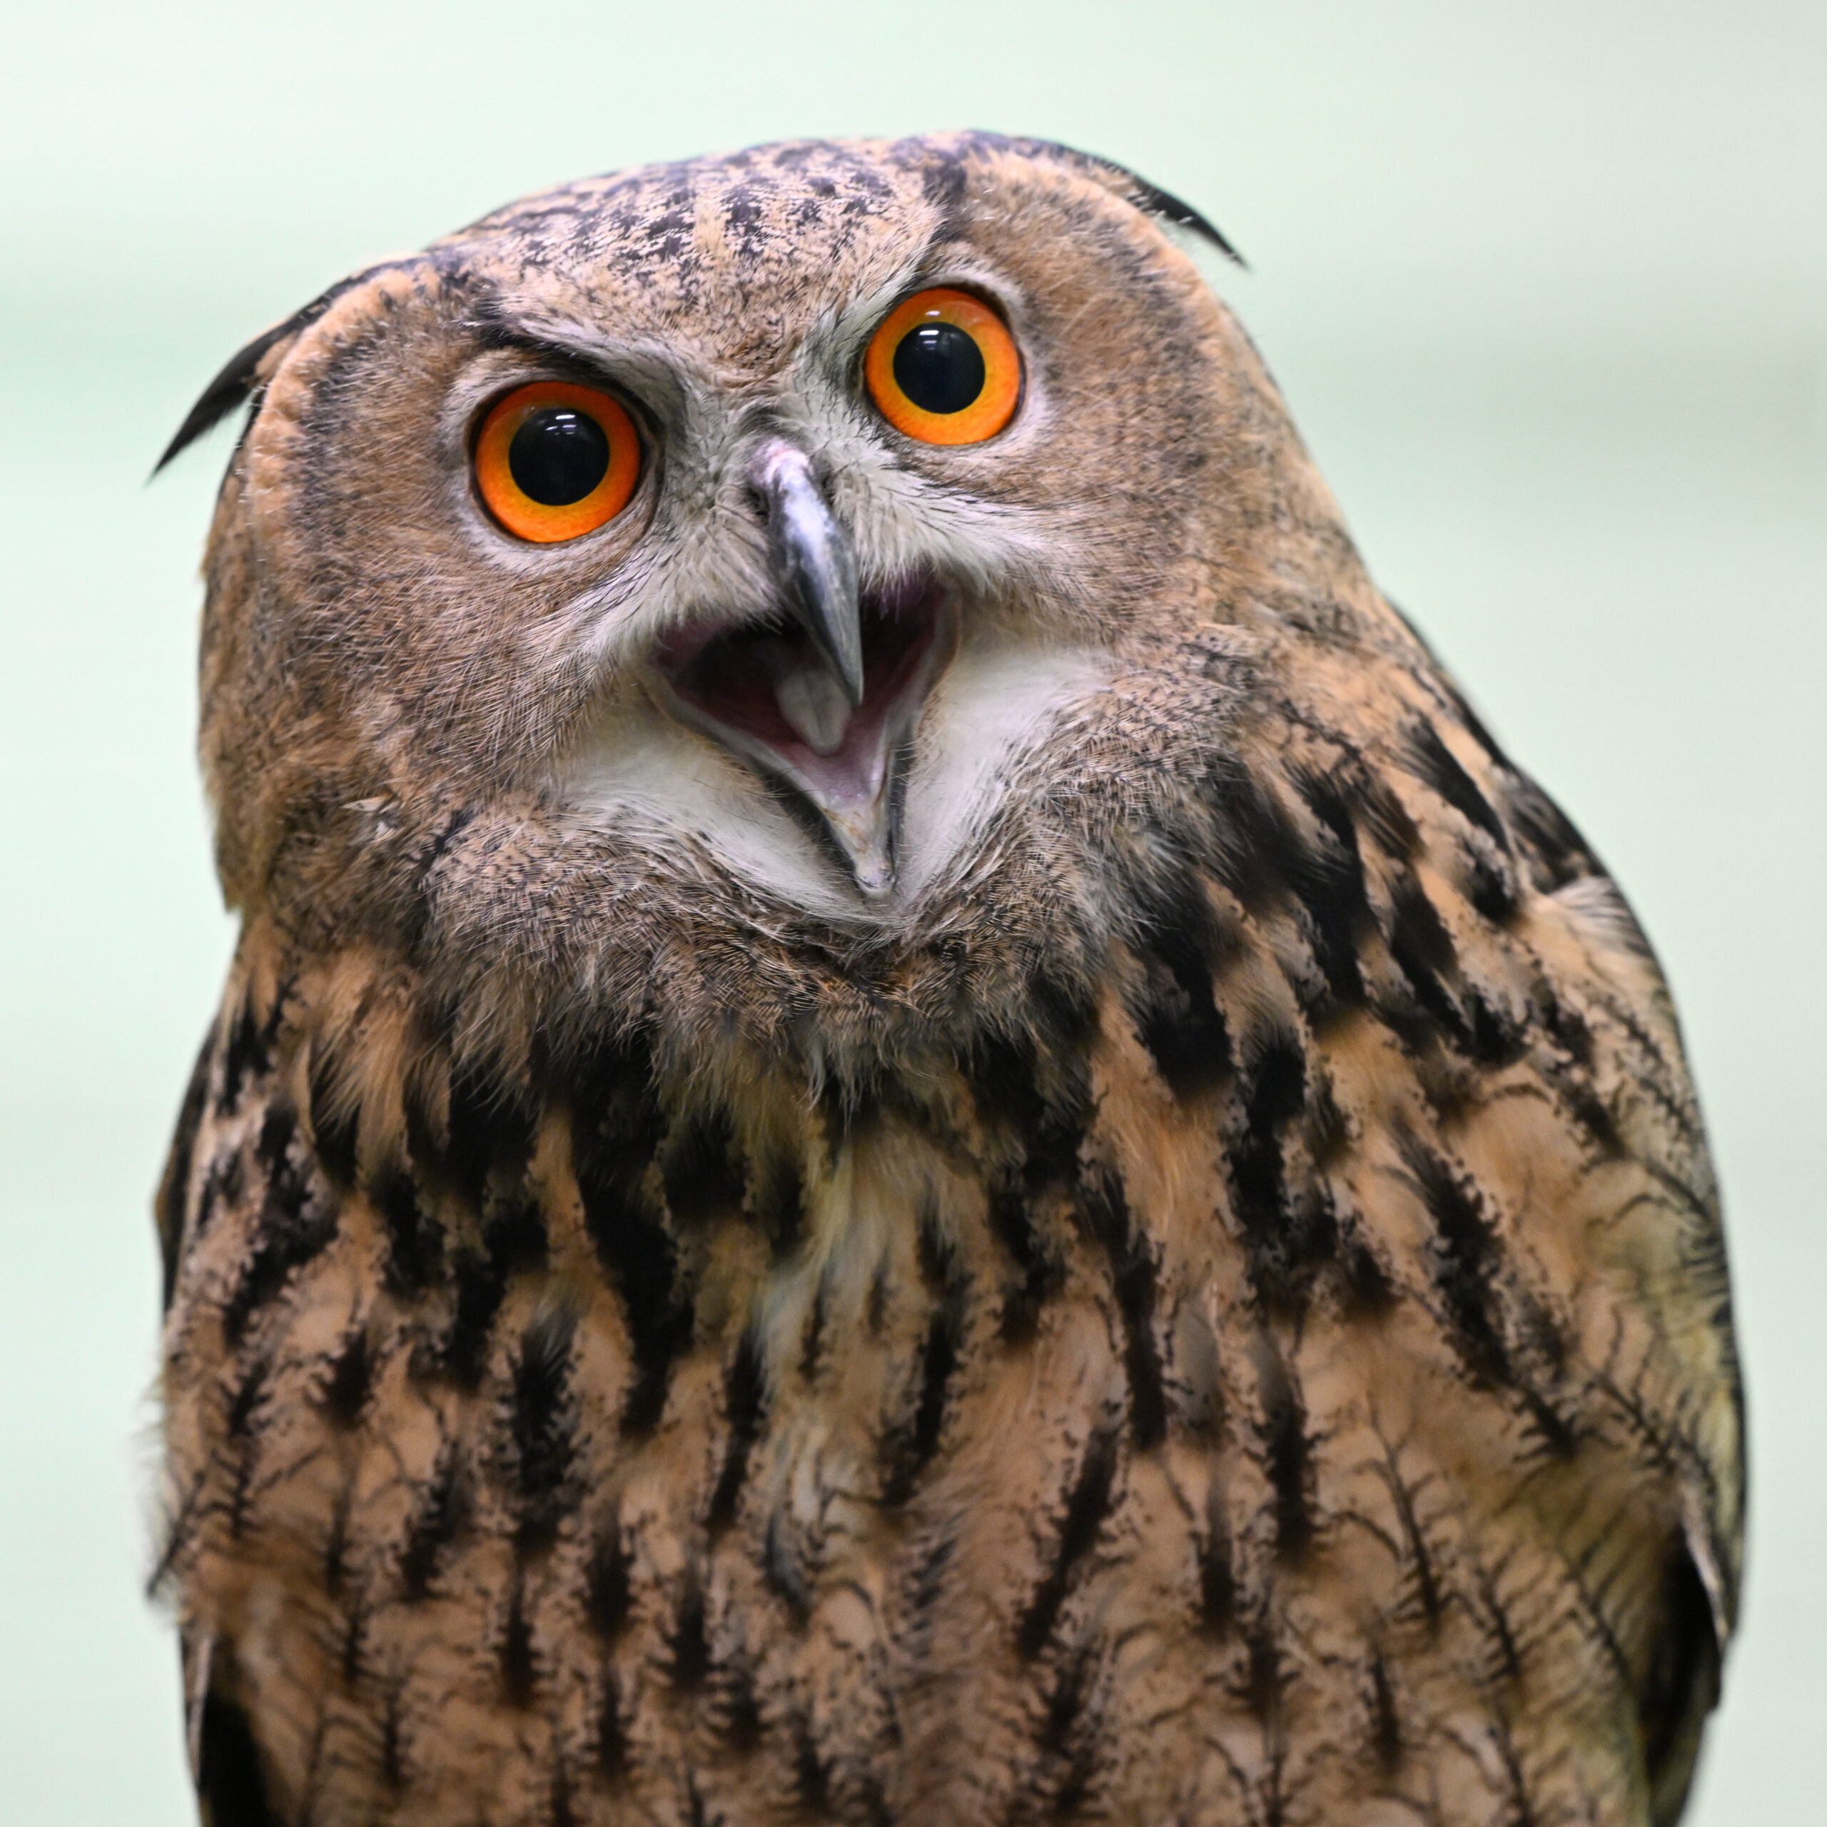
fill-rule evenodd
<path id="1" fill-rule="evenodd" d="M 928 576 L 857 588 L 850 535 L 798 446 L 767 440 L 751 481 L 767 506 L 775 601 L 667 636 L 654 652 L 661 696 L 806 800 L 857 886 L 884 895 L 897 775 L 954 634 L 948 601 Z"/>

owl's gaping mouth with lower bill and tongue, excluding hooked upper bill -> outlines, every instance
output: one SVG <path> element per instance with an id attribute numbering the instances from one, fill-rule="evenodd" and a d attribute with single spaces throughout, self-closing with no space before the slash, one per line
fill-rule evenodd
<path id="1" fill-rule="evenodd" d="M 698 623 L 660 641 L 671 709 L 793 789 L 870 895 L 893 888 L 895 809 L 908 740 L 956 638 L 950 597 L 915 574 L 857 592 L 861 694 L 828 643 L 778 612 Z"/>

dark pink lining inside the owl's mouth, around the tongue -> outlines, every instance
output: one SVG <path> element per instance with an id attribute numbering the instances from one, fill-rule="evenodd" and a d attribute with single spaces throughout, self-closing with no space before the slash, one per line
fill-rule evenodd
<path id="1" fill-rule="evenodd" d="M 861 594 L 862 703 L 840 744 L 820 755 L 782 716 L 776 681 L 824 667 L 811 636 L 787 618 L 738 628 L 681 628 L 663 639 L 654 663 L 700 716 L 771 749 L 795 775 L 837 802 L 871 798 L 881 780 L 890 725 L 908 709 L 939 625 L 939 590 L 912 577 Z"/>

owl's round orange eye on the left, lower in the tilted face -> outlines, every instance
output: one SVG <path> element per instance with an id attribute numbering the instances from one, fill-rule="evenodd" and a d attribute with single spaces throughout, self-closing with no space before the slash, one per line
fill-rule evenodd
<path id="1" fill-rule="evenodd" d="M 535 380 L 497 400 L 475 440 L 475 486 L 517 539 L 554 544 L 612 521 L 641 479 L 627 409 L 596 387 Z"/>

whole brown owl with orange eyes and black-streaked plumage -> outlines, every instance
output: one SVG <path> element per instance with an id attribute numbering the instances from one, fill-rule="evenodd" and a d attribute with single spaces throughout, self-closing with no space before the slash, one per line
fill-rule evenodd
<path id="1" fill-rule="evenodd" d="M 157 1199 L 212 1827 L 1668 1827 L 1668 992 L 1133 174 L 548 190 L 238 354 Z M 170 455 L 170 453 L 168 453 Z"/>

